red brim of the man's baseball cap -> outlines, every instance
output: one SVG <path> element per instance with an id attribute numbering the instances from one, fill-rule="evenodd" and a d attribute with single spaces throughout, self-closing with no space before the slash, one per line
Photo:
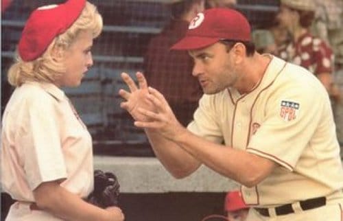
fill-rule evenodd
<path id="1" fill-rule="evenodd" d="M 199 36 L 186 36 L 178 41 L 175 45 L 171 46 L 171 50 L 193 50 L 213 45 L 220 38 L 208 38 Z"/>

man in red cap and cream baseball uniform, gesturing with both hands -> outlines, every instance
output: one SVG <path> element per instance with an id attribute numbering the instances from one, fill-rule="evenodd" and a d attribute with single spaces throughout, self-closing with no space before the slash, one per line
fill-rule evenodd
<path id="1" fill-rule="evenodd" d="M 188 50 L 204 95 L 184 128 L 161 93 L 130 92 L 122 108 L 144 128 L 156 156 L 176 178 L 204 164 L 241 183 L 248 221 L 342 220 L 343 168 L 330 100 L 307 69 L 250 43 L 250 25 L 235 10 L 198 14 L 173 49 Z M 224 144 L 223 144 L 224 143 Z"/>

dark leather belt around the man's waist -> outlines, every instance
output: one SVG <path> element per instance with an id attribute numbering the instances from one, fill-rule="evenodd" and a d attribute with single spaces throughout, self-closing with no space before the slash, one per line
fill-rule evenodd
<path id="1" fill-rule="evenodd" d="M 318 197 L 318 198 L 311 198 L 308 200 L 302 200 L 299 201 L 301 209 L 309 210 L 309 209 L 315 209 L 317 207 L 322 207 L 327 204 L 327 198 L 325 197 Z M 270 216 L 268 208 L 258 208 L 255 207 L 256 211 L 258 211 L 262 216 Z M 292 204 L 285 204 L 281 205 L 279 207 L 272 208 L 275 210 L 275 213 L 277 216 L 286 215 L 289 213 L 294 213 L 294 209 L 292 207 Z"/>

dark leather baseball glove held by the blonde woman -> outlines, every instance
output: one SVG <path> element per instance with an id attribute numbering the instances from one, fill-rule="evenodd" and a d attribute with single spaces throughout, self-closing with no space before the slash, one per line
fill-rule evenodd
<path id="1" fill-rule="evenodd" d="M 119 182 L 111 172 L 94 171 L 94 190 L 89 194 L 87 202 L 97 207 L 106 208 L 118 205 Z"/>

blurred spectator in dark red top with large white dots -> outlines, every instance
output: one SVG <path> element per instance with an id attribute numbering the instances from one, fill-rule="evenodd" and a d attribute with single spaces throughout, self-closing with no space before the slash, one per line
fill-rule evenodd
<path id="1" fill-rule="evenodd" d="M 310 33 L 314 20 L 315 5 L 311 0 L 281 0 L 277 19 L 285 25 L 292 42 L 285 50 L 279 51 L 279 56 L 296 65 L 303 66 L 325 86 L 333 100 L 339 99 L 339 93 L 333 90 L 333 52 L 324 40 Z"/>

